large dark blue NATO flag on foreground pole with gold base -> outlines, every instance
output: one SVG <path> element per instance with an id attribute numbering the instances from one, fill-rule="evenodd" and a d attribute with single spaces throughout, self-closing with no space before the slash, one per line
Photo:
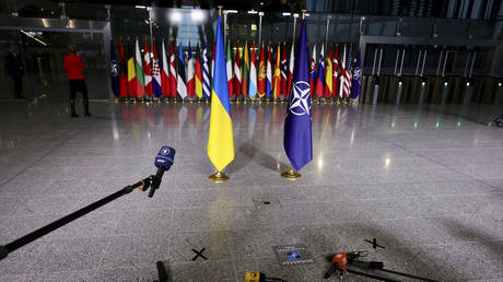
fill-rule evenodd
<path id="1" fill-rule="evenodd" d="M 293 87 L 284 121 L 283 145 L 293 168 L 300 171 L 313 160 L 309 64 L 305 20 L 302 20 L 301 38 L 296 51 Z"/>

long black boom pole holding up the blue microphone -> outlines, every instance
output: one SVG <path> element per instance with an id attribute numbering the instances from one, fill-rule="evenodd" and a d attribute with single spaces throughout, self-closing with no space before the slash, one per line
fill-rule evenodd
<path id="1" fill-rule="evenodd" d="M 164 169 L 162 169 L 162 172 L 164 172 Z M 74 212 L 66 215 L 65 218 L 61 218 L 61 219 L 59 219 L 59 220 L 57 220 L 55 222 L 51 222 L 51 223 L 47 224 L 44 227 L 40 227 L 40 228 L 38 228 L 38 230 L 27 234 L 27 235 L 24 235 L 21 238 L 17 238 L 17 239 L 15 239 L 15 240 L 13 240 L 11 243 L 8 243 L 7 245 L 0 246 L 0 260 L 7 258 L 7 256 L 10 252 L 12 252 L 12 251 L 14 251 L 14 250 L 16 250 L 16 249 L 19 249 L 19 248 L 32 243 L 32 242 L 34 242 L 36 239 L 43 237 L 44 235 L 47 235 L 47 234 L 54 232 L 55 230 L 67 225 L 68 223 L 70 223 L 70 222 L 72 222 L 72 221 L 74 221 L 74 220 L 77 220 L 77 219 L 79 219 L 79 218 L 81 218 L 81 216 L 83 216 L 83 215 L 96 210 L 97 208 L 101 208 L 101 207 L 103 207 L 103 205 L 116 200 L 119 197 L 122 197 L 122 196 L 125 196 L 127 193 L 132 192 L 132 190 L 134 190 L 136 188 L 139 188 L 141 191 L 144 192 L 149 188 L 152 187 L 152 189 L 150 190 L 150 193 L 149 193 L 149 197 L 152 197 L 154 195 L 154 192 L 155 192 L 155 189 L 157 189 L 159 186 L 161 185 L 161 180 L 162 180 L 161 177 L 162 177 L 162 173 L 160 173 L 157 171 L 156 175 L 151 175 L 151 176 L 149 176 L 149 177 L 147 177 L 147 178 L 133 184 L 133 185 L 126 186 L 122 189 L 120 189 L 119 191 L 114 192 L 114 193 L 112 193 L 112 195 L 109 195 L 109 196 L 107 196 L 107 197 L 105 197 L 105 198 L 103 198 L 103 199 L 101 199 L 101 200 L 98 200 L 96 202 L 93 202 L 93 203 L 91 203 L 91 204 L 89 204 L 89 205 L 86 205 L 86 207 L 84 207 L 84 208 L 82 208 L 82 209 L 80 209 L 78 211 L 74 211 Z"/>

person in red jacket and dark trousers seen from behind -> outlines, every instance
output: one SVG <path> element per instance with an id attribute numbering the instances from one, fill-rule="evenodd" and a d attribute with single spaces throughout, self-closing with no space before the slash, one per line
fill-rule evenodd
<path id="1" fill-rule="evenodd" d="M 85 85 L 84 74 L 82 70 L 85 64 L 79 55 L 75 54 L 73 48 L 70 48 L 70 54 L 65 56 L 63 59 L 63 71 L 68 73 L 68 81 L 70 82 L 70 107 L 71 117 L 79 117 L 75 113 L 75 94 L 78 91 L 82 93 L 82 101 L 84 104 L 84 115 L 91 116 L 89 113 L 89 98 L 87 98 L 87 86 Z"/>

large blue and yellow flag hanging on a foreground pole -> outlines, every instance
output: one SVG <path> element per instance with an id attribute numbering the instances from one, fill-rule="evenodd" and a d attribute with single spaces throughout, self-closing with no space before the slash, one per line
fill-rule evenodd
<path id="1" fill-rule="evenodd" d="M 208 137 L 208 156 L 211 163 L 222 172 L 234 160 L 234 137 L 232 133 L 231 103 L 229 102 L 225 49 L 222 34 L 222 16 L 217 24 L 214 48 L 213 89 L 211 92 L 210 133 Z"/>

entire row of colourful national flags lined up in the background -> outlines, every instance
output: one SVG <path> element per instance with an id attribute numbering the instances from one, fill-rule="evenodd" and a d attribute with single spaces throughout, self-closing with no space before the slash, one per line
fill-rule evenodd
<path id="1" fill-rule="evenodd" d="M 152 52 L 149 47 L 149 40 L 145 39 L 141 50 L 137 39 L 134 51 L 128 48 L 129 51 L 126 54 L 120 39 L 117 62 L 114 44 L 110 42 L 112 85 L 116 97 L 182 99 L 210 97 L 214 56 L 212 56 L 210 71 L 209 50 L 206 44 L 202 45 L 202 49 L 197 46 L 195 52 L 189 45 L 187 56 L 182 45 L 175 52 L 173 42 L 167 49 L 167 45 L 162 40 L 160 54 L 157 54 L 155 39 L 152 39 Z M 316 44 L 312 48 L 311 96 L 326 99 L 355 99 L 361 92 L 360 51 L 353 64 L 352 47 L 347 51 L 347 46 L 343 46 L 341 62 L 339 62 L 338 45 L 335 46 L 334 52 L 332 45 L 329 45 L 326 58 L 324 47 L 321 46 L 318 60 L 316 60 Z M 257 48 L 255 43 L 248 46 L 246 42 L 243 47 L 237 43 L 234 48 L 231 43 L 227 43 L 225 70 L 230 98 L 288 98 L 292 90 L 294 60 L 294 45 L 286 56 L 285 43 L 277 46 L 262 44 L 260 48 Z"/>

